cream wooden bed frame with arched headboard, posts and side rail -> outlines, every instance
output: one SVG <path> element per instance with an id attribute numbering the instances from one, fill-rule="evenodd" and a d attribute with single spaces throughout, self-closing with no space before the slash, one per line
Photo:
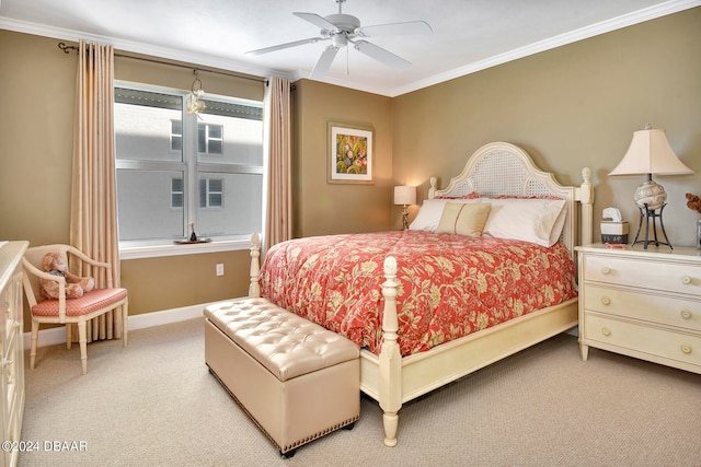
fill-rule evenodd
<path id="1" fill-rule="evenodd" d="M 560 185 L 552 174 L 540 171 L 522 149 L 494 142 L 480 148 L 460 175 L 445 189 L 430 178 L 428 198 L 459 197 L 476 191 L 481 196 L 555 196 L 566 200 L 566 221 L 561 236 L 573 258 L 577 244 L 578 214 L 581 244 L 591 243 L 594 188 L 591 171 L 582 171 L 578 187 Z M 579 209 L 578 209 L 579 208 Z M 257 234 L 251 246 L 250 296 L 261 296 L 258 285 L 261 244 Z M 497 326 L 437 346 L 426 352 L 402 358 L 398 338 L 397 260 L 384 261 L 382 295 L 383 343 L 379 355 L 360 352 L 360 390 L 377 400 L 383 410 L 384 444 L 397 445 L 399 410 L 402 404 L 451 383 L 491 363 L 512 355 L 577 325 L 577 299 L 529 313 Z"/>

